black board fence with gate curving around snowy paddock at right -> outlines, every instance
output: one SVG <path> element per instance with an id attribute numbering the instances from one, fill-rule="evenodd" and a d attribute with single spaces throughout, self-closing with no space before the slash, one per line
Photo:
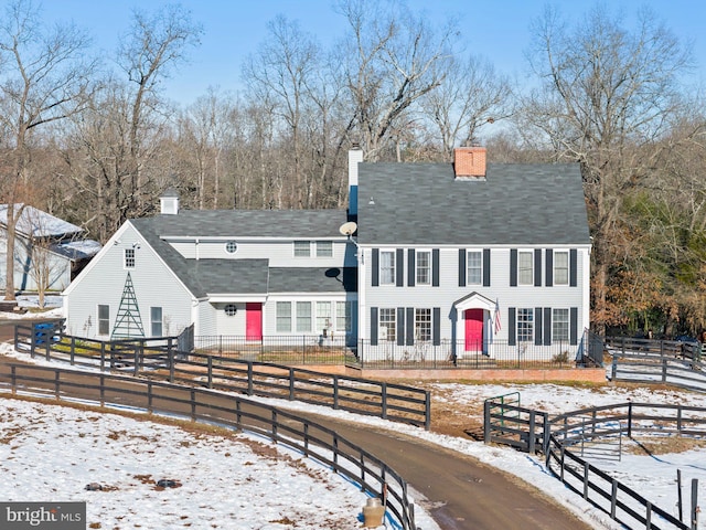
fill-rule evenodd
<path id="1" fill-rule="evenodd" d="M 549 417 L 544 412 L 521 407 L 520 395 L 513 400 L 509 394 L 485 401 L 483 423 L 485 443 L 544 453 L 547 469 L 554 476 L 627 528 L 696 529 L 697 487 L 692 487 L 688 521 L 683 522 L 591 465 L 582 455 L 588 444 L 605 444 L 616 436 L 631 437 L 635 433 L 703 438 L 706 436 L 704 407 L 620 403 Z"/>

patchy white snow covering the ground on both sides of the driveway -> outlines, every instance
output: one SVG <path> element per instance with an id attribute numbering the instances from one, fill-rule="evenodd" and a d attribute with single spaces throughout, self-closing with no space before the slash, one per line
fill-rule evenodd
<path id="1" fill-rule="evenodd" d="M 0 346 L 0 353 L 20 356 L 7 344 Z M 22 359 L 26 360 L 26 356 L 22 356 Z M 436 383 L 435 386 L 439 390 L 439 395 L 443 395 L 435 399 L 446 399 L 459 404 L 518 392 L 522 406 L 549 413 L 627 401 L 683 403 L 706 407 L 706 394 L 680 390 L 612 385 L 596 389 L 557 384 Z M 293 411 L 391 426 L 384 420 L 360 417 L 327 407 L 284 400 L 256 400 Z M 15 412 L 8 415 L 10 406 Z M 25 410 L 30 406 L 39 409 Z M 89 521 L 97 517 L 101 526 L 94 528 L 104 529 L 137 528 L 138 524 L 147 529 L 168 528 L 164 520 L 172 521 L 169 528 L 237 530 L 291 528 L 291 521 L 298 521 L 296 528 L 303 529 L 347 529 L 362 526 L 359 520 L 360 507 L 364 505 L 365 497 L 357 491 L 357 487 L 315 463 L 301 459 L 299 455 L 285 452 L 279 458 L 263 456 L 252 452 L 252 441 L 243 444 L 226 438 L 204 438 L 175 427 L 135 422 L 119 416 L 101 415 L 98 418 L 97 413 L 93 412 L 67 412 L 68 416 L 64 418 L 63 412 L 60 412 L 64 410 L 50 405 L 18 405 L 17 402 L 7 400 L 0 402 L 0 473 L 3 478 L 12 478 L 0 481 L 0 498 L 85 499 L 88 501 Z M 14 421 L 10 420 L 14 416 L 18 417 L 17 425 L 10 423 Z M 542 488 L 593 528 L 622 528 L 552 477 L 541 458 L 411 426 L 395 424 L 392 428 L 513 473 Z M 97 433 L 95 436 L 92 434 L 94 431 Z M 11 439 L 3 443 L 8 433 Z M 277 451 L 282 449 L 279 447 Z M 231 456 L 225 456 L 226 454 Z M 698 504 L 706 506 L 704 448 L 659 456 L 625 454 L 620 460 L 595 460 L 592 464 L 614 474 L 623 484 L 674 515 L 677 515 L 676 470 L 681 469 L 684 485 L 691 484 L 693 478 L 700 481 Z M 253 473 L 248 475 L 248 471 Z M 150 479 L 142 483 L 140 478 L 136 478 L 145 476 Z M 174 478 L 182 486 L 158 491 L 152 479 L 159 478 Z M 85 485 L 93 481 L 117 489 L 85 491 Z M 62 497 L 62 491 L 71 491 L 72 495 Z M 688 488 L 684 488 L 683 494 L 685 502 L 688 502 Z M 425 506 L 420 496 L 417 500 L 421 507 Z M 312 508 L 306 509 L 303 506 Z M 422 530 L 438 529 L 422 510 L 417 510 L 417 524 Z M 699 520 L 698 528 L 706 529 L 706 521 Z"/>

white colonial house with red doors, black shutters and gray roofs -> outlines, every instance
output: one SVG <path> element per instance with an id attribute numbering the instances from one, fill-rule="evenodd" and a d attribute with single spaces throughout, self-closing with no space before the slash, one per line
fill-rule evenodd
<path id="1" fill-rule="evenodd" d="M 454 163 L 362 159 L 349 152 L 347 211 L 184 211 L 164 193 L 64 292 L 68 332 L 574 354 L 591 250 L 578 165 L 486 165 L 484 148 Z"/>

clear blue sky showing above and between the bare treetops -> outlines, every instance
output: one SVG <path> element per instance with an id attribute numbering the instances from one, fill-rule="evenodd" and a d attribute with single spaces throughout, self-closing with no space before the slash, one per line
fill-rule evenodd
<path id="1" fill-rule="evenodd" d="M 34 0 L 40 2 L 41 0 Z M 7 0 L 0 0 L 7 3 Z M 170 3 L 165 0 L 43 0 L 47 22 L 73 20 L 95 39 L 96 47 L 110 54 L 120 33 L 129 28 L 135 7 L 151 11 Z M 171 2 L 174 3 L 174 2 Z M 239 87 L 240 64 L 266 35 L 266 24 L 277 14 L 298 20 L 301 28 L 324 45 L 345 31 L 345 22 L 332 9 L 331 0 L 182 0 L 195 21 L 203 24 L 200 47 L 190 52 L 190 64 L 182 65 L 164 85 L 165 94 L 182 104 L 205 94 L 208 86 L 223 91 Z M 530 23 L 548 3 L 578 18 L 596 4 L 593 0 L 408 0 L 416 11 L 424 10 L 432 21 L 457 17 L 468 50 L 490 60 L 503 73 L 522 78 L 526 66 L 524 51 Z M 648 6 L 683 40 L 693 41 L 697 62 L 696 80 L 706 80 L 706 2 L 704 0 L 607 0 L 611 10 L 621 9 L 633 20 L 638 9 Z"/>

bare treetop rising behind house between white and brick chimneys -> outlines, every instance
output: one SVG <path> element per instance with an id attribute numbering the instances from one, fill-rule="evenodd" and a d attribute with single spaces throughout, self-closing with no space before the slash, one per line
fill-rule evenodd
<path id="1" fill-rule="evenodd" d="M 374 161 L 403 115 L 443 81 L 436 66 L 452 54 L 456 33 L 449 24 L 437 34 L 399 2 L 341 0 L 338 8 L 350 25 L 341 46 L 352 107 L 347 130 L 360 135 Z"/>

